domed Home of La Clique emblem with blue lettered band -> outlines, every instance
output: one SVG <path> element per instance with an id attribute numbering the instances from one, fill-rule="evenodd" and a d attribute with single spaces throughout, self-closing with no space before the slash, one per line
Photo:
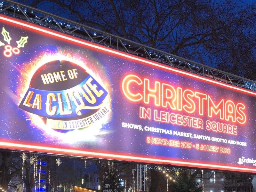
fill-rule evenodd
<path id="1" fill-rule="evenodd" d="M 79 65 L 54 60 L 38 68 L 19 107 L 65 132 L 91 126 L 109 112 L 108 92 Z"/>

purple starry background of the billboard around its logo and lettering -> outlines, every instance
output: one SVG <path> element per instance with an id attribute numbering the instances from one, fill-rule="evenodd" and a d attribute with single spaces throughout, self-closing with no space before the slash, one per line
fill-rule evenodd
<path id="1" fill-rule="evenodd" d="M 19 41 L 21 36 L 28 36 L 28 40 L 24 47 L 19 48 L 19 54 L 12 53 L 11 57 L 6 57 L 4 51 L 8 42 L 4 40 L 4 36 L 0 38 L 1 42 L 5 44 L 0 46 L 1 148 L 256 172 L 256 162 L 254 163 L 254 159 L 256 160 L 256 118 L 254 115 L 256 112 L 256 99 L 253 93 L 246 93 L 242 89 L 237 91 L 231 86 L 227 88 L 225 87 L 226 85 L 219 85 L 214 83 L 213 80 L 209 83 L 207 80 L 191 77 L 186 72 L 175 72 L 172 68 L 171 70 L 164 69 L 161 65 L 146 64 L 146 60 L 141 59 L 142 61 L 138 61 L 138 57 L 133 59 L 132 55 L 128 55 L 131 58 L 127 58 L 127 55 L 121 52 L 117 52 L 119 53 L 117 55 L 114 50 L 90 42 L 85 42 L 88 46 L 79 42 L 75 43 L 68 40 L 68 38 L 72 39 L 72 36 L 63 36 L 62 38 L 60 33 L 36 27 L 23 21 L 5 21 L 9 19 L 13 20 L 6 16 L 0 17 L 0 30 L 4 27 L 9 32 L 9 36 L 12 38 L 10 41 L 12 48 L 17 47 L 18 43 L 16 41 Z M 17 21 L 20 23 L 17 23 Z M 32 30 L 29 26 L 35 28 Z M 44 33 L 42 29 L 57 35 Z M 82 42 L 82 40 L 73 39 Z M 97 46 L 99 47 L 97 48 Z M 120 56 L 120 54 L 126 56 Z M 29 84 L 31 84 L 30 80 L 34 75 L 35 68 L 39 68 L 38 65 L 42 66 L 42 63 L 52 60 L 72 61 L 87 69 L 88 73 L 108 92 L 107 100 L 105 100 L 105 105 L 109 109 L 108 114 L 100 117 L 97 122 L 91 122 L 93 124 L 85 128 L 80 129 L 74 125 L 74 129 L 67 131 L 48 127 L 43 117 L 19 108 L 20 101 L 25 97 Z M 78 70 L 77 73 L 79 75 L 80 71 Z M 234 103 L 243 102 L 246 106 L 246 123 L 241 125 L 226 122 L 237 126 L 237 135 L 231 135 L 207 131 L 205 128 L 194 129 L 188 126 L 160 123 L 154 121 L 154 119 L 142 119 L 140 118 L 140 107 L 151 108 L 152 111 L 156 109 L 158 111 L 162 110 L 201 118 L 204 123 L 209 118 L 207 116 L 199 116 L 196 113 L 188 114 L 184 111 L 178 112 L 171 111 L 168 108 L 156 107 L 153 102 L 146 105 L 143 102 L 128 100 L 122 90 L 122 81 L 129 74 L 139 76 L 141 79 L 148 78 L 152 87 L 155 81 L 159 81 L 169 83 L 174 87 L 179 86 L 184 89 L 200 90 L 200 92 L 210 95 L 214 101 L 224 98 L 233 100 Z M 40 78 L 38 77 L 38 79 Z M 136 90 L 138 86 L 135 85 L 130 88 Z M 67 81 L 63 89 L 69 87 L 69 81 Z M 33 100 L 31 100 L 31 103 L 33 103 Z M 44 105 L 45 103 L 42 102 L 42 109 L 45 108 Z M 220 121 L 214 117 L 209 120 Z M 152 131 L 153 129 L 148 127 L 163 129 L 165 133 L 157 132 L 156 130 Z M 166 130 L 169 133 L 166 133 Z M 179 131 L 180 133 L 176 132 L 176 135 L 174 135 L 174 131 Z M 183 133 L 181 134 L 181 132 Z M 189 137 L 187 137 L 188 135 Z M 201 139 L 199 135 L 201 135 Z M 205 140 L 202 136 L 204 138 L 210 137 L 210 140 Z M 192 143 L 192 145 L 205 144 L 205 146 L 229 148 L 230 154 L 220 153 L 220 151 L 197 150 L 195 147 L 182 148 L 181 146 L 156 145 L 148 143 L 147 137 L 178 140 L 180 142 L 186 141 Z M 214 138 L 232 140 L 235 143 L 224 143 L 220 142 L 220 140 L 218 142 L 214 141 L 216 140 Z M 239 142 L 246 143 L 246 146 L 239 145 Z M 39 146 L 39 148 L 35 146 Z M 54 151 L 53 148 L 70 150 Z M 81 153 L 72 150 L 79 150 Z M 84 154 L 82 151 L 85 151 Z"/>

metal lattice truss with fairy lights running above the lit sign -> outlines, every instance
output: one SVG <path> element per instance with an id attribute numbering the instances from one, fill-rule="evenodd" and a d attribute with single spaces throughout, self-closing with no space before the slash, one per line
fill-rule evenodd
<path id="1" fill-rule="evenodd" d="M 0 13 L 200 76 L 256 91 L 256 82 L 10 0 Z"/>

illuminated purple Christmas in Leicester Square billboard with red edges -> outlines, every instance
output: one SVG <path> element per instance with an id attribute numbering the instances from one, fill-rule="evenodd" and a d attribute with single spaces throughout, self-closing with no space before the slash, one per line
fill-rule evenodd
<path id="1" fill-rule="evenodd" d="M 256 173 L 255 92 L 0 23 L 1 148 Z"/>

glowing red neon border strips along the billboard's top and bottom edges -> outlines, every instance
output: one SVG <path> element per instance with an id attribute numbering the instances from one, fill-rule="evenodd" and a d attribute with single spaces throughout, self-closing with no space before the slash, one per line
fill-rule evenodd
<path id="1" fill-rule="evenodd" d="M 107 52 L 108 54 L 113 54 L 115 56 L 120 56 L 125 59 L 130 59 L 137 61 L 141 64 L 150 65 L 151 67 L 161 68 L 163 70 L 171 71 L 182 76 L 189 76 L 190 78 L 195 78 L 200 81 L 204 81 L 210 84 L 215 84 L 221 87 L 225 87 L 228 89 L 232 89 L 235 91 L 243 92 L 245 94 L 249 94 L 252 96 L 256 96 L 256 92 L 249 91 L 240 87 L 236 87 L 234 85 L 225 84 L 216 80 L 212 80 L 207 77 L 199 76 L 196 74 L 188 73 L 186 71 L 172 68 L 154 61 L 146 60 L 140 58 L 138 56 L 130 55 L 128 53 L 124 53 L 118 50 L 114 50 L 112 48 L 108 48 L 102 45 L 94 44 L 91 42 L 86 42 L 82 39 L 68 36 L 62 34 L 60 32 L 47 29 L 41 26 L 37 26 L 35 24 L 28 23 L 26 21 L 14 19 L 5 15 L 0 16 L 0 20 L 5 21 L 7 23 L 14 24 L 19 27 L 25 27 L 29 30 L 34 30 L 39 33 L 43 33 L 44 35 L 50 35 L 54 38 L 61 38 L 68 42 L 76 43 L 79 45 L 83 45 L 89 47 L 90 49 L 100 50 L 102 52 Z M 182 160 L 170 160 L 170 159 L 158 159 L 155 157 L 145 157 L 145 156 L 133 156 L 133 155 L 120 155 L 115 153 L 105 153 L 105 152 L 92 152 L 92 151 L 84 151 L 79 149 L 66 149 L 66 148 L 53 148 L 48 146 L 39 146 L 34 144 L 28 143 L 15 143 L 0 140 L 0 148 L 5 149 L 13 149 L 13 150 L 23 150 L 23 151 L 32 151 L 32 152 L 43 152 L 43 153 L 51 153 L 51 154 L 59 154 L 59 155 L 70 155 L 70 156 L 81 156 L 81 157 L 93 157 L 93 158 L 103 158 L 103 159 L 113 159 L 113 160 L 125 160 L 125 161 L 132 161 L 132 162 L 141 162 L 141 163 L 154 163 L 154 164 L 170 164 L 176 166 L 185 166 L 185 167 L 198 167 L 198 168 L 207 168 L 207 169 L 219 169 L 219 170 L 227 170 L 227 171 L 239 171 L 239 172 L 249 172 L 249 173 L 256 173 L 256 169 L 252 169 L 251 167 L 241 167 L 241 166 L 234 166 L 234 165 L 224 165 L 224 164 L 208 164 L 205 162 L 193 162 L 193 161 L 182 161 Z"/>

